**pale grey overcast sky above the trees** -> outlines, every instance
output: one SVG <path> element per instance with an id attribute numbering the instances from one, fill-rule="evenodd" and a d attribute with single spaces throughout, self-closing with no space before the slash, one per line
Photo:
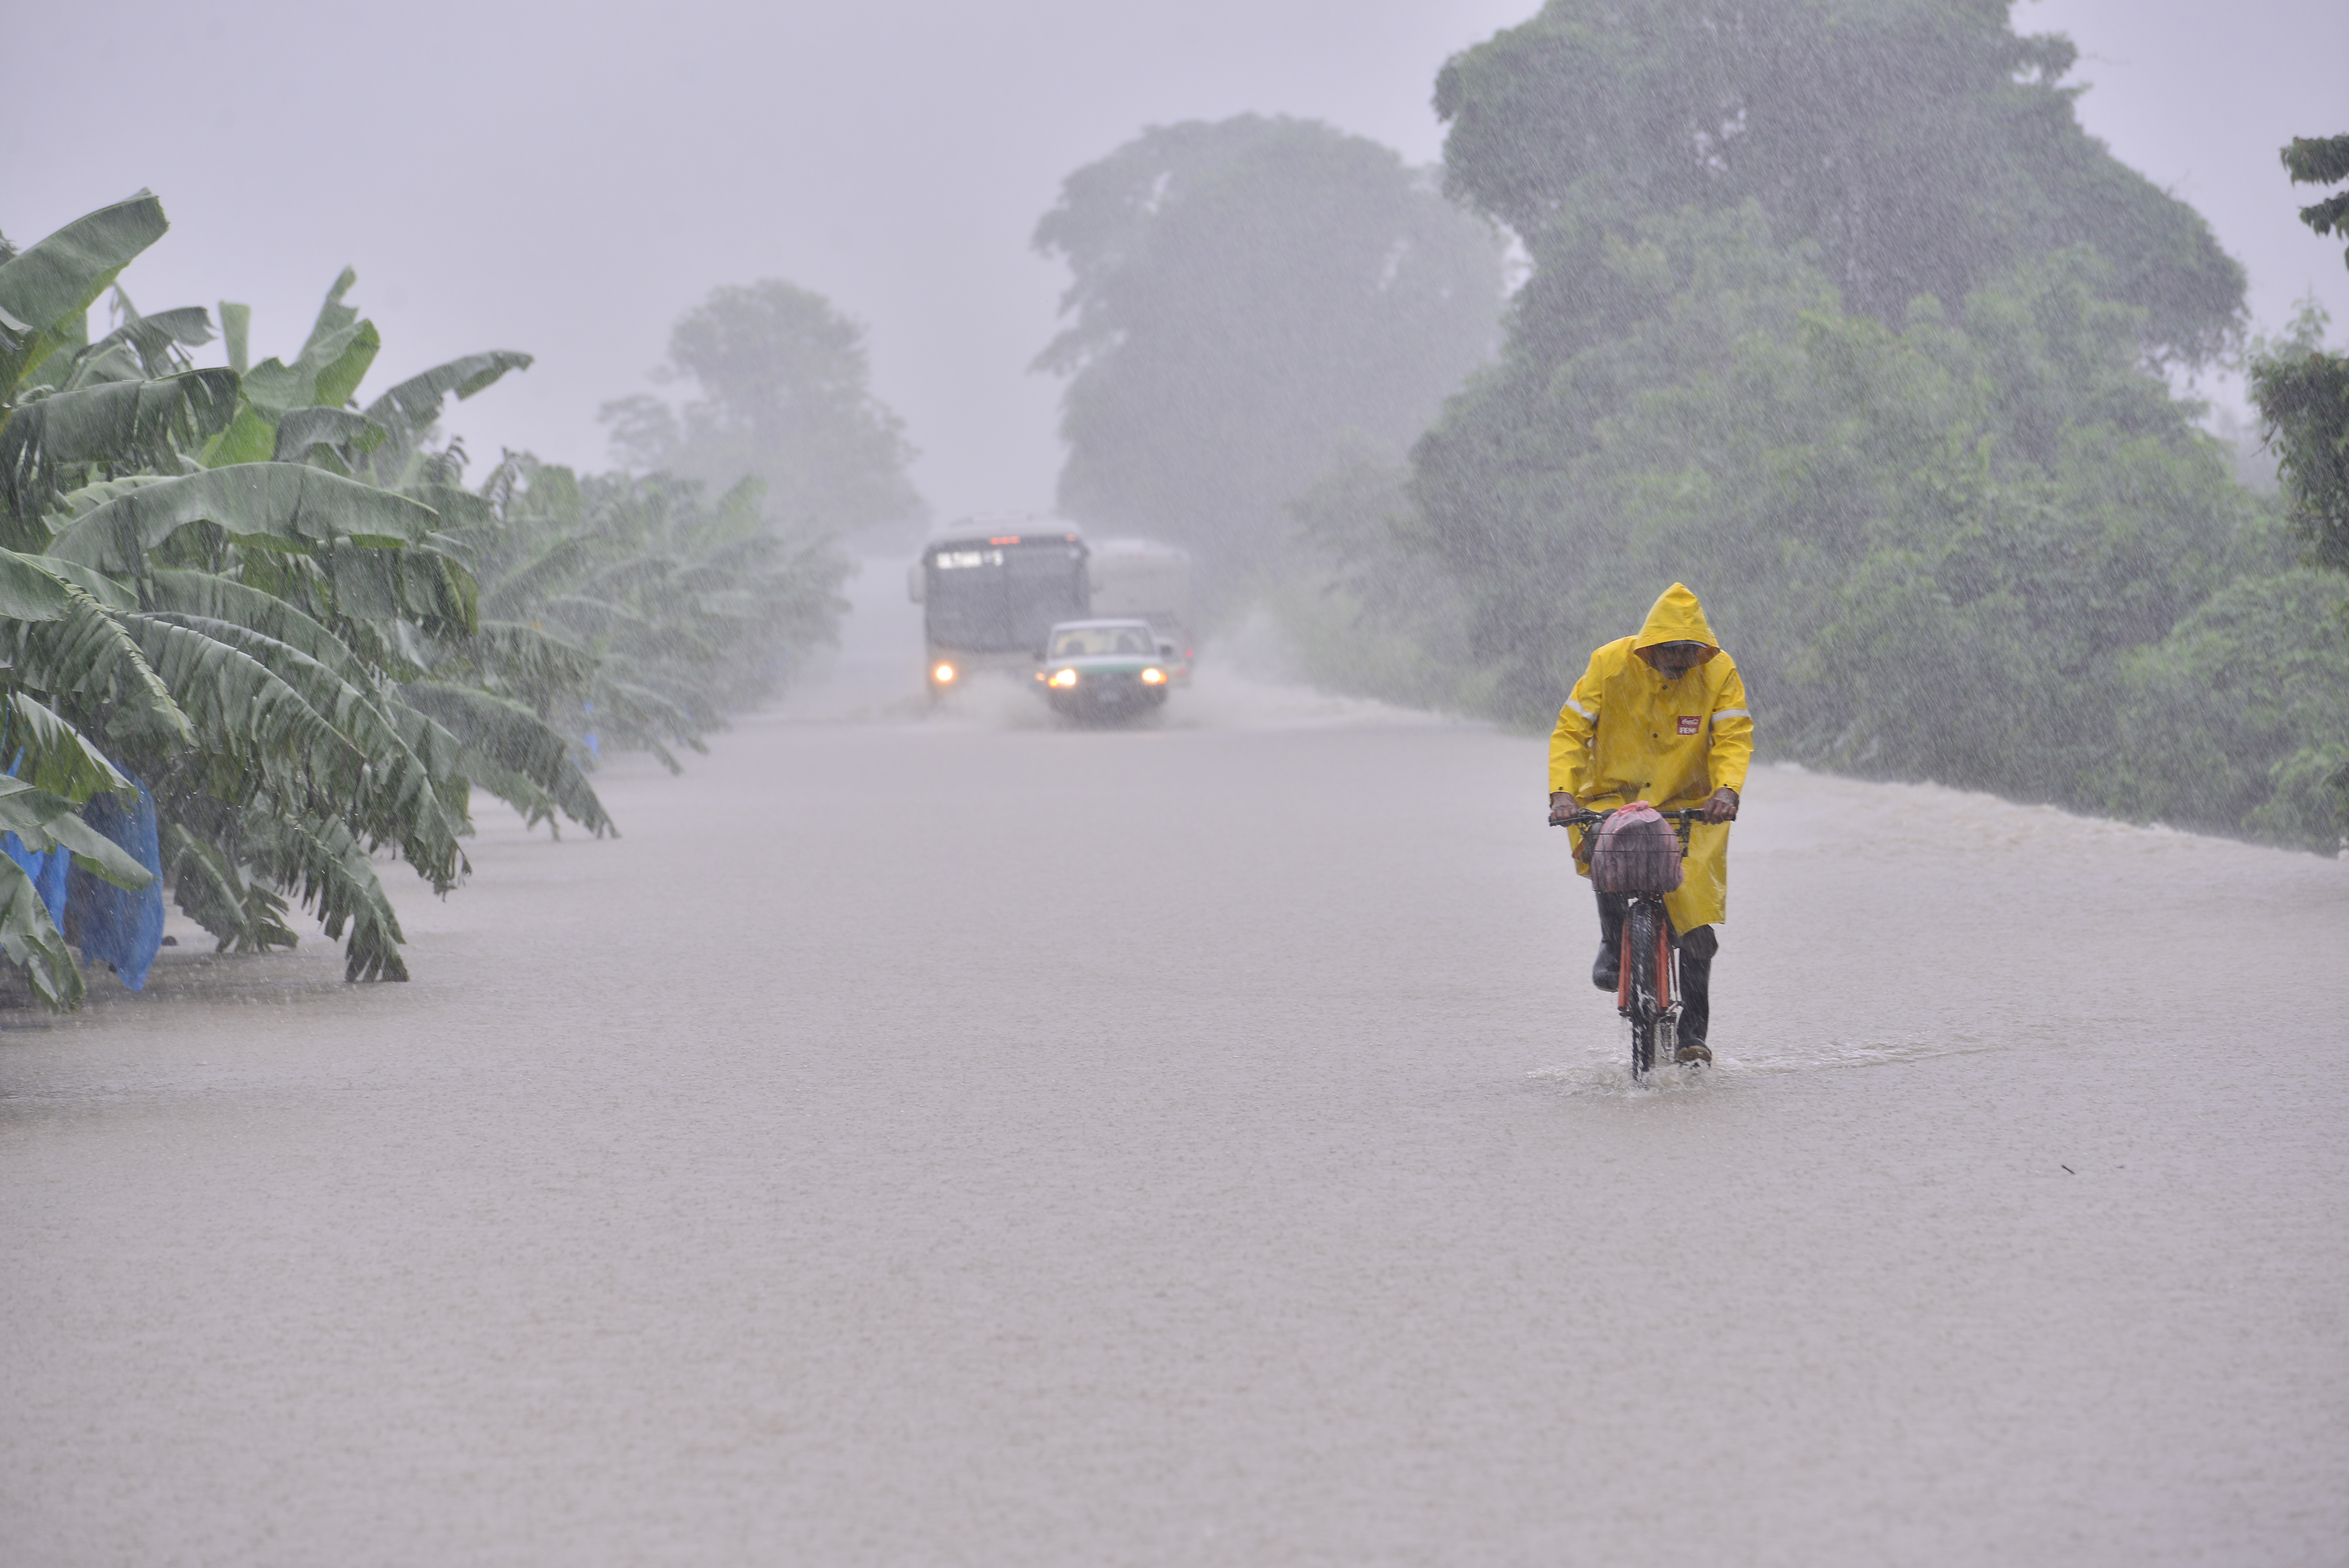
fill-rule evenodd
<path id="1" fill-rule="evenodd" d="M 291 354 L 343 263 L 383 329 L 369 387 L 460 352 L 538 364 L 460 406 L 474 458 L 604 467 L 597 406 L 648 390 L 709 286 L 787 277 L 871 329 L 876 392 L 942 519 L 1048 507 L 1057 383 L 1027 373 L 1064 277 L 1029 251 L 1064 174 L 1172 120 L 1327 120 L 1433 162 L 1447 54 L 1536 0 L 669 0 L 14 7 L 0 228 L 28 244 L 150 185 L 141 310 L 240 298 Z M 2253 317 L 2340 242 L 2276 162 L 2349 131 L 2340 0 L 2022 0 L 2079 42 L 2081 117 L 2194 202 Z M 40 68 L 23 68 L 42 61 Z M 2340 336 L 2340 333 L 2335 333 Z"/>

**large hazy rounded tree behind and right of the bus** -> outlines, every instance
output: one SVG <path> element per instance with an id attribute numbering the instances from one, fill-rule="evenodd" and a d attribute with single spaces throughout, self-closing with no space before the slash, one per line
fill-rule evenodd
<path id="1" fill-rule="evenodd" d="M 1501 254 L 1431 174 L 1308 120 L 1153 127 L 1036 225 L 1066 261 L 1059 505 L 1231 582 L 1341 437 L 1402 451 L 1499 338 Z"/>

